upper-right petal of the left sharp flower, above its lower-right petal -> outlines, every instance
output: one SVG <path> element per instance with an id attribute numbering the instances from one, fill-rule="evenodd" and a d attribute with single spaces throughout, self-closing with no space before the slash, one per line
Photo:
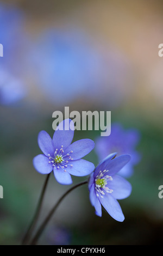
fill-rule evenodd
<path id="1" fill-rule="evenodd" d="M 94 147 L 95 143 L 91 139 L 80 139 L 67 147 L 65 154 L 73 151 L 73 153 L 71 153 L 71 157 L 73 160 L 77 160 L 89 154 Z"/>

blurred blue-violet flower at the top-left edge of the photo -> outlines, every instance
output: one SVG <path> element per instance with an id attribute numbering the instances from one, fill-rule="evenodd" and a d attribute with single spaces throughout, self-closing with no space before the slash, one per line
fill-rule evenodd
<path id="1" fill-rule="evenodd" d="M 4 54 L 1 58 L 3 68 L 11 71 L 22 69 L 22 52 L 26 45 L 26 36 L 23 28 L 23 13 L 14 5 L 0 4 L 0 44 Z"/>

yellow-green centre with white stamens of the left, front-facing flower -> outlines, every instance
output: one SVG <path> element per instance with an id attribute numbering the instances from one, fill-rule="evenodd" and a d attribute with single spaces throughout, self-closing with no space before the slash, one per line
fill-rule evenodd
<path id="1" fill-rule="evenodd" d="M 73 164 L 70 163 L 70 161 L 73 160 L 73 158 L 70 156 L 70 154 L 73 153 L 73 151 L 71 150 L 69 153 L 67 154 L 63 154 L 64 153 L 64 146 L 61 146 L 61 149 L 58 150 L 58 149 L 55 149 L 55 153 L 54 153 L 54 156 L 51 156 L 50 154 L 48 154 L 48 158 L 49 160 L 49 163 L 52 163 L 53 164 L 53 167 L 54 169 L 64 169 L 64 171 L 66 172 L 66 168 L 68 166 L 73 166 Z"/>

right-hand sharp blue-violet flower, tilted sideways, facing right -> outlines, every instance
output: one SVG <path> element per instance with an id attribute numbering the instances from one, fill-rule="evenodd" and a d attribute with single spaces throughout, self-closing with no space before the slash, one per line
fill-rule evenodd
<path id="1" fill-rule="evenodd" d="M 122 222 L 124 215 L 117 199 L 127 198 L 131 193 L 130 183 L 117 175 L 129 162 L 130 155 L 116 157 L 116 153 L 106 157 L 95 169 L 89 179 L 90 201 L 96 215 L 102 216 L 102 205 L 116 221 Z"/>

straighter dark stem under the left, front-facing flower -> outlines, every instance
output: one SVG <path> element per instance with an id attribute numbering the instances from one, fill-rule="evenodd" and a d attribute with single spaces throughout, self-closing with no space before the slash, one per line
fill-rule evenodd
<path id="1" fill-rule="evenodd" d="M 32 219 L 32 222 L 29 225 L 29 228 L 26 231 L 26 234 L 25 234 L 25 236 L 23 238 L 23 241 L 22 241 L 22 245 L 26 245 L 28 243 L 30 235 L 32 234 L 32 232 L 34 230 L 34 227 L 36 225 L 36 222 L 39 218 L 40 210 L 41 210 L 41 206 L 42 206 L 42 202 L 43 202 L 43 197 L 45 196 L 45 191 L 46 191 L 46 187 L 47 187 L 47 184 L 48 184 L 49 176 L 50 176 L 50 173 L 46 176 L 46 180 L 45 180 L 45 182 L 43 184 L 43 187 L 42 187 L 42 191 L 41 191 L 41 194 L 40 194 L 39 203 L 37 204 L 35 215 Z"/>

